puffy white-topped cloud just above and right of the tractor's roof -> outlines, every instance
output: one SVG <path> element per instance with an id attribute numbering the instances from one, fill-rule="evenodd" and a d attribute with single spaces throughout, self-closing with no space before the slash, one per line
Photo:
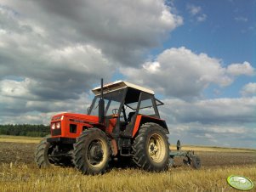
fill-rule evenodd
<path id="1" fill-rule="evenodd" d="M 201 96 L 211 83 L 228 86 L 234 81 L 234 76 L 251 76 L 254 69 L 247 62 L 225 68 L 221 59 L 195 54 L 181 47 L 163 51 L 155 60 L 145 62 L 140 68 L 128 67 L 121 71 L 128 80 L 136 79 L 168 97 L 185 99 Z"/>

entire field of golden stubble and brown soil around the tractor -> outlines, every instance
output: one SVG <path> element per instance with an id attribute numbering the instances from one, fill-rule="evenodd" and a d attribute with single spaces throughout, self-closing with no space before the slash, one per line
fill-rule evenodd
<path id="1" fill-rule="evenodd" d="M 168 172 L 112 168 L 104 175 L 84 176 L 72 167 L 38 169 L 33 161 L 38 142 L 0 136 L 0 191 L 236 191 L 226 182 L 230 175 L 256 181 L 256 150 L 185 146 L 200 156 L 200 170 L 177 158 Z"/>

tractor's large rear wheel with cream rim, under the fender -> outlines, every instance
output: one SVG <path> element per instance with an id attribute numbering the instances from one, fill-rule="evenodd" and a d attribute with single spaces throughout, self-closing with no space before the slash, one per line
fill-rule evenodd
<path id="1" fill-rule="evenodd" d="M 145 123 L 134 139 L 133 161 L 146 171 L 161 172 L 168 169 L 169 143 L 165 130 L 156 123 Z"/>

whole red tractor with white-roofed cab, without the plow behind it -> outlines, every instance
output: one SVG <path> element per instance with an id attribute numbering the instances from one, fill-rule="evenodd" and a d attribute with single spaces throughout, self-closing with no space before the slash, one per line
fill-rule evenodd
<path id="1" fill-rule="evenodd" d="M 113 159 L 146 171 L 168 169 L 168 127 L 154 92 L 129 82 L 94 88 L 88 114 L 52 117 L 51 136 L 37 145 L 38 167 L 74 165 L 83 174 L 104 173 Z"/>

